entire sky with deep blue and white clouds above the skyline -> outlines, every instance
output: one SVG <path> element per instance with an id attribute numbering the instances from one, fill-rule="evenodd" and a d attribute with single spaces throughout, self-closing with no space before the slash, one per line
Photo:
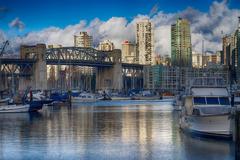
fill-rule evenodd
<path id="1" fill-rule="evenodd" d="M 88 31 L 96 47 L 109 39 L 116 48 L 135 41 L 135 24 L 154 24 L 155 53 L 170 55 L 170 26 L 177 17 L 190 21 L 193 51 L 221 49 L 221 37 L 237 29 L 240 0 L 1 0 L 0 42 L 9 50 L 21 44 L 73 46 L 73 35 Z M 223 34 L 222 34 L 223 33 Z"/>

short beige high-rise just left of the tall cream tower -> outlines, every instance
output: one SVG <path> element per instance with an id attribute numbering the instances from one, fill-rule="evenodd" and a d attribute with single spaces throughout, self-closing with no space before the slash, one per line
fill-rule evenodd
<path id="1" fill-rule="evenodd" d="M 126 63 L 136 63 L 136 45 L 130 41 L 122 43 L 122 61 Z"/>

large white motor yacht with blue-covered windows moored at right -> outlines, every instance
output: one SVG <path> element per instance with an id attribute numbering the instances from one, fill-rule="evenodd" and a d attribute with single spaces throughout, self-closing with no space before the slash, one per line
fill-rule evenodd
<path id="1" fill-rule="evenodd" d="M 180 128 L 193 134 L 230 138 L 231 97 L 223 79 L 197 78 L 192 81 L 180 116 Z"/>

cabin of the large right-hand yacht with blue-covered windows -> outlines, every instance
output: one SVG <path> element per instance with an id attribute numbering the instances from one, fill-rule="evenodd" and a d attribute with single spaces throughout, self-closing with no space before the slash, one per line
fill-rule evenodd
<path id="1" fill-rule="evenodd" d="M 227 88 L 191 88 L 191 94 L 185 97 L 184 106 L 187 115 L 207 116 L 228 114 L 231 103 Z"/>

